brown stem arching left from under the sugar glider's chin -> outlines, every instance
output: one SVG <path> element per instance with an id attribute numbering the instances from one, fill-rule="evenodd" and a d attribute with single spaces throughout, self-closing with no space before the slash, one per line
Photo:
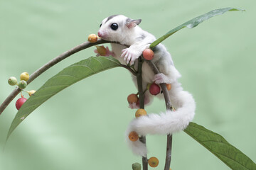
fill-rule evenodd
<path id="1" fill-rule="evenodd" d="M 36 77 L 41 75 L 43 72 L 46 72 L 47 69 L 49 69 L 50 67 L 53 67 L 53 65 L 55 65 L 58 62 L 64 60 L 65 58 L 70 57 L 70 55 L 73 55 L 76 52 L 79 52 L 81 50 L 85 50 L 88 47 L 92 47 L 94 45 L 99 45 L 99 44 L 103 44 L 103 43 L 119 43 L 119 42 L 110 42 L 110 41 L 100 39 L 95 43 L 84 42 L 84 43 L 82 43 L 82 44 L 80 44 L 76 47 L 73 47 L 72 49 L 70 49 L 66 52 L 63 52 L 63 54 L 59 55 L 58 57 L 55 57 L 53 60 L 50 60 L 50 62 L 44 64 L 41 68 L 37 69 L 36 72 L 33 72 L 33 74 L 31 74 L 31 76 L 29 77 L 29 79 L 27 81 L 27 84 L 30 84 L 31 81 L 36 79 Z M 127 68 L 127 67 L 125 67 L 125 68 Z M 129 69 L 129 71 L 131 71 L 131 69 Z M 134 74 L 134 72 L 132 72 L 132 74 Z M 21 89 L 15 89 L 14 91 L 11 92 L 11 94 L 9 94 L 9 96 L 5 99 L 5 101 L 3 103 L 1 103 L 0 115 L 4 111 L 4 109 L 9 105 L 9 103 L 11 103 L 11 101 L 14 100 L 14 98 L 20 92 L 21 92 Z"/>

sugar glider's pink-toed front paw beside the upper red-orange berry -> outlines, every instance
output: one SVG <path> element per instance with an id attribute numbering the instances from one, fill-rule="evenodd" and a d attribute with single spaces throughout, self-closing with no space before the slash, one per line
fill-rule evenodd
<path id="1" fill-rule="evenodd" d="M 140 55 L 140 52 L 137 52 L 136 50 L 132 50 L 131 48 L 125 48 L 124 50 L 122 50 L 121 57 L 124 57 L 124 62 L 133 65 L 134 61 L 137 60 Z"/>

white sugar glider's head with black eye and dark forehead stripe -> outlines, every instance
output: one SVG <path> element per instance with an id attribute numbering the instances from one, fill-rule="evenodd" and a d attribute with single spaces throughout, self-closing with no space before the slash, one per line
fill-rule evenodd
<path id="1" fill-rule="evenodd" d="M 99 37 L 103 40 L 124 42 L 134 34 L 134 28 L 141 23 L 141 19 L 133 20 L 122 15 L 105 18 L 100 24 Z"/>

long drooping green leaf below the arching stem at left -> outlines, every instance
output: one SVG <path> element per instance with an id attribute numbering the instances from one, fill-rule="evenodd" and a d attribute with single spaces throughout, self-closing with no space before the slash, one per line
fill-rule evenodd
<path id="1" fill-rule="evenodd" d="M 50 97 L 93 74 L 119 66 L 121 66 L 120 62 L 114 59 L 114 57 L 90 57 L 66 67 L 63 71 L 48 79 L 48 81 L 46 81 L 46 83 L 23 104 L 11 123 L 6 140 L 8 140 L 15 128 L 30 113 L 38 108 L 38 106 L 41 106 L 41 104 L 47 101 Z"/>

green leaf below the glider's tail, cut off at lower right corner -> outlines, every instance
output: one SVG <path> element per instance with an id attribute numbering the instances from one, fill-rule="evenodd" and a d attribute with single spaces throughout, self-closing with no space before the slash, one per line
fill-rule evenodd
<path id="1" fill-rule="evenodd" d="M 221 135 L 218 135 L 218 133 L 207 130 L 196 123 L 190 123 L 184 132 L 215 154 L 215 156 L 227 164 L 230 169 L 256 169 L 256 164 L 252 162 L 249 157 L 233 145 L 230 145 L 230 143 L 228 143 Z"/>

